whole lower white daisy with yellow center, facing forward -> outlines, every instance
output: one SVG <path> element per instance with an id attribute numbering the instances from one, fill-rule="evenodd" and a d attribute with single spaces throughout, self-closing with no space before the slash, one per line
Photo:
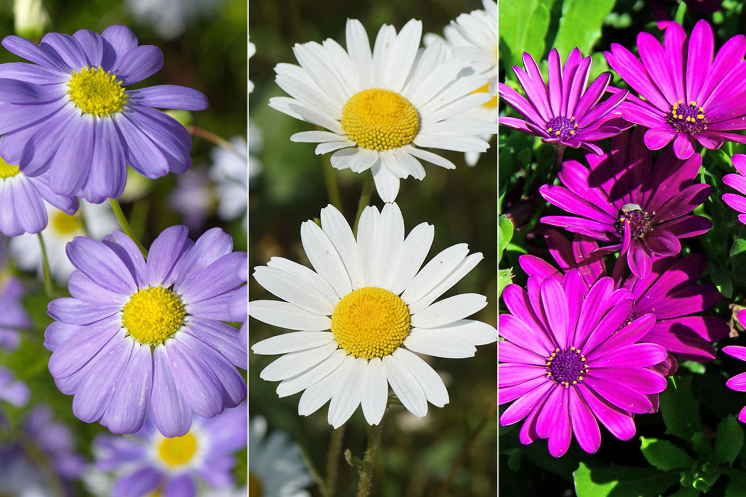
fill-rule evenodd
<path id="1" fill-rule="evenodd" d="M 442 407 L 448 391 L 413 352 L 446 358 L 474 355 L 475 346 L 497 340 L 489 324 L 466 317 L 487 305 L 480 294 L 436 300 L 477 262 L 466 244 L 449 247 L 424 268 L 434 229 L 427 223 L 404 238 L 404 219 L 395 203 L 382 212 L 368 206 L 360 216 L 357 241 L 333 206 L 321 212 L 321 226 L 301 225 L 301 241 L 316 271 L 281 257 L 254 268 L 254 279 L 286 302 L 255 300 L 248 314 L 298 332 L 260 341 L 255 354 L 283 354 L 260 373 L 280 381 L 280 397 L 305 390 L 298 414 L 329 405 L 334 428 L 363 406 L 366 421 L 383 417 L 389 384 L 417 417 L 427 402 Z"/>

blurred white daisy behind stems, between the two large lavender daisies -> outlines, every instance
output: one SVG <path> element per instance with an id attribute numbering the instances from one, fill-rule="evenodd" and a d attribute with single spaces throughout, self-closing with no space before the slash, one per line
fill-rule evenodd
<path id="1" fill-rule="evenodd" d="M 69 215 L 48 204 L 46 204 L 46 209 L 49 222 L 41 234 L 46 247 L 49 270 L 55 281 L 61 285 L 67 285 L 67 277 L 75 270 L 65 252 L 67 242 L 72 241 L 72 238 L 78 235 L 101 240 L 115 229 L 119 229 L 119 223 L 109 203 L 90 203 L 81 198 L 80 209 L 74 215 Z M 86 234 L 86 227 L 88 234 Z M 33 235 L 24 233 L 10 238 L 8 251 L 19 268 L 36 271 L 40 279 L 44 277 L 42 250 L 36 233 Z"/>

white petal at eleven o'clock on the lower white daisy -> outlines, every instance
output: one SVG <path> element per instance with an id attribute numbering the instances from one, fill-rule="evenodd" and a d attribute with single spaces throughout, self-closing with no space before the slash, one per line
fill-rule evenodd
<path id="1" fill-rule="evenodd" d="M 350 276 L 334 245 L 318 224 L 313 221 L 301 224 L 301 243 L 313 269 L 329 282 L 337 296 L 342 298 L 349 294 L 352 291 Z"/>

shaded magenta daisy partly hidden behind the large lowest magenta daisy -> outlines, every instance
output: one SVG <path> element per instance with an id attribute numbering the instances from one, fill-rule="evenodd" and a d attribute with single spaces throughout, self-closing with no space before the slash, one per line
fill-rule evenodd
<path id="1" fill-rule="evenodd" d="M 518 262 L 529 276 L 561 281 L 566 271 L 577 268 L 586 291 L 606 276 L 603 256 L 593 253 L 598 244 L 592 238 L 576 233 L 571 244 L 559 232 L 548 229 L 545 239 L 560 270 L 536 256 L 520 256 Z M 710 343 L 727 337 L 730 332 L 730 326 L 717 317 L 693 315 L 715 306 L 723 298 L 712 283 L 695 285 L 706 264 L 703 254 L 690 254 L 682 259 L 654 257 L 651 273 L 643 279 L 634 274 L 624 277 L 626 264 L 615 265 L 614 287 L 629 290 L 634 300 L 630 320 L 649 313 L 655 316 L 655 324 L 640 341 L 659 344 L 668 351 L 669 358 L 661 370 L 666 376 L 673 374 L 677 366 L 671 353 L 689 361 L 711 361 L 715 350 Z"/>

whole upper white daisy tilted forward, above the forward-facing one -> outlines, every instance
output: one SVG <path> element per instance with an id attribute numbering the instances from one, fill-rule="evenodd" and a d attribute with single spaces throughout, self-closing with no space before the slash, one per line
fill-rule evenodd
<path id="1" fill-rule="evenodd" d="M 317 154 L 336 151 L 331 164 L 337 169 L 370 169 L 385 202 L 396 199 L 400 178 L 424 177 L 418 159 L 456 167 L 424 148 L 484 152 L 489 145 L 478 136 L 496 132 L 491 122 L 454 118 L 489 100 L 485 92 L 472 93 L 483 77 L 458 77 L 463 62 L 447 60 L 440 45 L 419 49 L 421 33 L 415 19 L 399 34 L 383 25 L 371 51 L 363 25 L 348 19 L 346 51 L 333 39 L 296 44 L 301 66 L 275 66 L 275 81 L 292 98 L 270 98 L 269 105 L 329 130 L 290 139 L 320 142 Z"/>

